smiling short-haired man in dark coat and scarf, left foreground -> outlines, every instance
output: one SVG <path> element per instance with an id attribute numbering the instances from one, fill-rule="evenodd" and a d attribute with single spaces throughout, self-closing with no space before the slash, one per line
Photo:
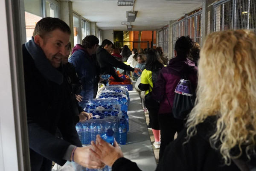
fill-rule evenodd
<path id="1" fill-rule="evenodd" d="M 52 161 L 103 166 L 94 160 L 90 146 L 82 148 L 64 93 L 61 58 L 67 55 L 70 33 L 64 21 L 46 17 L 36 24 L 32 40 L 22 46 L 32 171 L 50 171 Z M 55 137 L 57 128 L 63 139 Z"/>

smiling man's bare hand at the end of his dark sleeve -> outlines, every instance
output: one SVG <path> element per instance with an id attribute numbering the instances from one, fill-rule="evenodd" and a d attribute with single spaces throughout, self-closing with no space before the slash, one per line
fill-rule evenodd
<path id="1" fill-rule="evenodd" d="M 91 149 L 91 150 L 90 150 Z M 77 147 L 74 151 L 74 157 L 71 155 L 70 160 L 86 168 L 103 168 L 105 166 L 92 150 L 92 146 Z"/>

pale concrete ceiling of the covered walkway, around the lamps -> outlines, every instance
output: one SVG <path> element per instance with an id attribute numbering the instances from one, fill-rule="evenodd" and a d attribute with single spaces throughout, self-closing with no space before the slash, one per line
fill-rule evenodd
<path id="1" fill-rule="evenodd" d="M 202 0 L 135 0 L 134 6 L 117 6 L 117 0 L 71 0 L 73 11 L 102 30 L 125 31 L 126 11 L 138 11 L 133 30 L 156 30 L 202 6 Z"/>

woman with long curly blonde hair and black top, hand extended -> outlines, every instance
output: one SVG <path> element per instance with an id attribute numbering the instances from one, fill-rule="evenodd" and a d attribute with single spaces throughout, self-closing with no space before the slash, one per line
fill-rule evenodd
<path id="1" fill-rule="evenodd" d="M 256 34 L 210 34 L 200 52 L 196 104 L 186 127 L 166 146 L 156 171 L 253 171 L 256 169 Z M 94 151 L 112 171 L 139 171 L 97 136 Z M 125 165 L 129 166 L 128 170 Z"/>

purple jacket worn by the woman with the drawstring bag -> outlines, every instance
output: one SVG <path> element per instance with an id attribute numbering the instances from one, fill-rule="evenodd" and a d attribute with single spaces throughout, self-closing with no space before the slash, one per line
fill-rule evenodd
<path id="1" fill-rule="evenodd" d="M 152 91 L 153 98 L 160 101 L 159 114 L 172 112 L 169 102 L 172 106 L 175 96 L 174 91 L 181 79 L 181 75 L 186 74 L 195 92 L 198 81 L 197 70 L 198 68 L 194 62 L 188 58 L 184 60 L 179 57 L 172 58 L 167 67 L 163 67 L 160 70 Z"/>

